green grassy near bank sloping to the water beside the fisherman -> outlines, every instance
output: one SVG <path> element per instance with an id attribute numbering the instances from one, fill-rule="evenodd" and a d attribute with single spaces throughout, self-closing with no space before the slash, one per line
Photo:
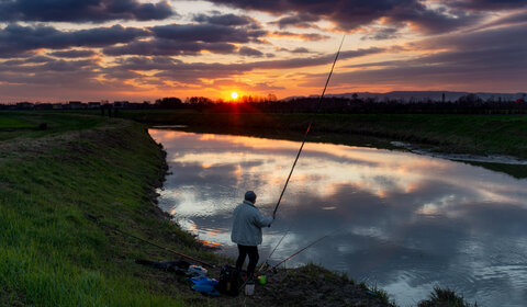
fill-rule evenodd
<path id="1" fill-rule="evenodd" d="M 225 263 L 154 203 L 166 162 L 145 126 L 15 112 L 0 113 L 0 306 L 390 306 L 381 289 L 316 265 L 268 276 L 249 299 L 197 294 L 183 277 L 135 263 L 177 257 L 87 218 Z"/>

